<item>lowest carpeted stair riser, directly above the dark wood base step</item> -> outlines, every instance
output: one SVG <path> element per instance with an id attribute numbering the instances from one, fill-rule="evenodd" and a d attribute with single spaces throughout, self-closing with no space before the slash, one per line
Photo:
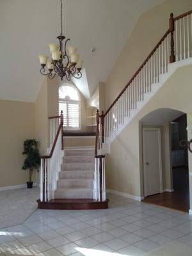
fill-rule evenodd
<path id="1" fill-rule="evenodd" d="M 93 189 L 91 188 L 74 188 L 74 189 L 56 189 L 54 192 L 55 199 L 57 198 L 93 198 Z"/>

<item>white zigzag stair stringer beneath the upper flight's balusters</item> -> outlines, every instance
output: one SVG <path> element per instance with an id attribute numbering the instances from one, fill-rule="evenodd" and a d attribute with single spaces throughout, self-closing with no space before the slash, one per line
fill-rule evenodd
<path id="1" fill-rule="evenodd" d="M 175 73 L 175 71 L 178 68 L 188 66 L 191 64 L 192 58 L 168 64 L 168 72 L 160 74 L 159 82 L 151 84 L 151 92 L 145 92 L 144 99 L 142 101 L 137 102 L 137 108 L 131 109 L 130 116 L 124 116 L 124 124 L 118 124 L 118 131 L 113 131 L 113 136 L 106 138 L 106 142 L 102 143 L 102 149 L 99 150 L 99 154 L 110 154 L 111 143 L 124 130 L 124 128 L 129 124 L 129 122 L 131 122 L 131 120 L 140 112 L 140 110 L 147 104 L 147 102 L 150 99 L 152 99 L 152 97 L 158 92 L 161 86 L 163 86 L 163 84 L 166 83 L 166 81 Z"/>

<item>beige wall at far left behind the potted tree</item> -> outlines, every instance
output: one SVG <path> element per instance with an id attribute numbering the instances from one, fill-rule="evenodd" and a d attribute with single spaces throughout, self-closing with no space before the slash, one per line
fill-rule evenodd
<path id="1" fill-rule="evenodd" d="M 21 169 L 23 142 L 35 138 L 35 105 L 0 100 L 0 188 L 26 184 L 28 172 Z M 36 174 L 33 175 L 36 182 Z"/>

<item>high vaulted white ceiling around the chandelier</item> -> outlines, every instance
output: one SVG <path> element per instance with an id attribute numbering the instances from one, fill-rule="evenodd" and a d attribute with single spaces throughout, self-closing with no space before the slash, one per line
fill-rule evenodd
<path id="1" fill-rule="evenodd" d="M 141 13 L 163 1 L 64 1 L 65 35 L 84 60 L 86 77 L 77 87 L 85 97 L 106 81 Z M 57 42 L 59 8 L 58 0 L 0 0 L 0 99 L 35 101 L 43 79 L 38 54 Z"/>

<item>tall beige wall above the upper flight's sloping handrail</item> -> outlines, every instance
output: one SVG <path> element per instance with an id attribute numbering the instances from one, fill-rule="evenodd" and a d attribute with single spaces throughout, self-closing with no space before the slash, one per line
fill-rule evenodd
<path id="1" fill-rule="evenodd" d="M 191 0 L 166 0 L 141 15 L 106 81 L 106 108 L 168 30 L 170 13 L 177 16 L 191 9 Z"/>

